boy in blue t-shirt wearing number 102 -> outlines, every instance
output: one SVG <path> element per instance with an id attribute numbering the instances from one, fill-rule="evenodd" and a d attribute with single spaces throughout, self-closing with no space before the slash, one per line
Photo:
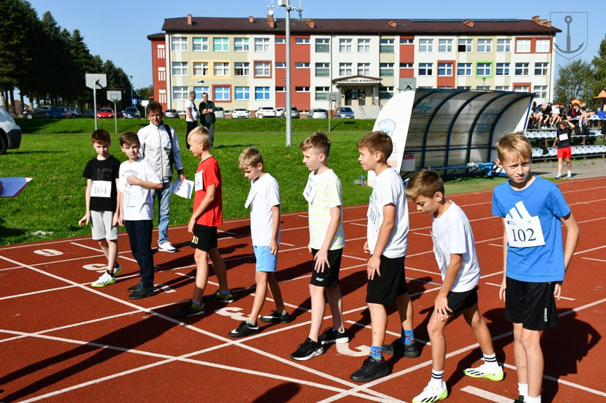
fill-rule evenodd
<path id="1" fill-rule="evenodd" d="M 558 325 L 555 298 L 579 240 L 579 226 L 558 186 L 530 172 L 532 149 L 521 133 L 496 143 L 496 164 L 508 182 L 496 186 L 492 214 L 503 217 L 503 282 L 499 298 L 513 322 L 513 354 L 520 396 L 540 403 L 543 380 L 541 331 Z M 562 245 L 562 226 L 566 243 Z M 562 252 L 563 251 L 563 252 Z"/>

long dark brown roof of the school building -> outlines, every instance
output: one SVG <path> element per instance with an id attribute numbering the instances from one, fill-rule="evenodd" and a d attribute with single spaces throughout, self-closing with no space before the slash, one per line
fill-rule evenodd
<path id="1" fill-rule="evenodd" d="M 191 25 L 187 22 L 191 18 Z M 250 22 L 250 21 L 253 22 Z M 246 32 L 284 34 L 284 18 L 275 19 L 271 28 L 268 18 L 183 17 L 166 18 L 165 32 Z M 293 34 L 545 34 L 555 35 L 560 29 L 539 20 L 388 20 L 388 19 L 310 19 L 291 18 Z"/>

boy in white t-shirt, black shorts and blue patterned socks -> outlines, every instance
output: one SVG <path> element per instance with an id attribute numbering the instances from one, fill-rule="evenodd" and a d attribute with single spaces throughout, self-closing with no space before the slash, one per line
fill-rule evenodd
<path id="1" fill-rule="evenodd" d="M 419 357 L 421 351 L 414 341 L 412 303 L 404 273 L 409 230 L 404 182 L 400 172 L 387 164 L 393 144 L 384 132 L 371 132 L 357 142 L 357 149 L 362 168 L 376 174 L 364 244 L 364 252 L 371 254 L 367 265 L 366 303 L 371 317 L 372 345 L 370 356 L 350 378 L 369 382 L 389 373 L 383 352 L 414 358 Z M 402 337 L 383 346 L 387 329 L 386 306 L 394 304 L 402 321 Z"/>

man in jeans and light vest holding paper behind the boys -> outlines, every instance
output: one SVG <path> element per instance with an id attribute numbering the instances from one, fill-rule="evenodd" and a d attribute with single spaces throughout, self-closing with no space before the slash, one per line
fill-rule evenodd
<path id="1" fill-rule="evenodd" d="M 152 165 L 162 180 L 162 189 L 152 190 L 154 203 L 158 199 L 158 250 L 176 252 L 177 248 L 169 242 L 173 165 L 181 182 L 185 181 L 185 175 L 183 175 L 179 140 L 175 130 L 162 122 L 163 116 L 162 105 L 159 102 L 150 102 L 147 105 L 147 118 L 150 124 L 140 129 L 137 135 L 141 144 L 139 151 L 141 158 Z"/>

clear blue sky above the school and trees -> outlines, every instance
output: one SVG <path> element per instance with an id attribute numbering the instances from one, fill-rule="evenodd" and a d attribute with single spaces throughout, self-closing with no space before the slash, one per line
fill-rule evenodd
<path id="1" fill-rule="evenodd" d="M 115 64 L 133 76 L 136 88 L 152 84 L 152 51 L 148 34 L 162 32 L 164 18 L 185 17 L 242 17 L 267 15 L 271 0 L 231 1 L 86 1 L 86 0 L 29 0 L 41 16 L 51 11 L 61 27 L 70 31 L 79 29 L 91 53 Z M 291 0 L 298 5 L 298 0 Z M 277 4 L 277 0 L 274 0 Z M 407 4 L 407 5 L 406 5 Z M 574 10 L 572 4 L 581 4 Z M 599 4 L 599 3 L 598 3 Z M 597 53 L 606 34 L 603 12 L 591 13 L 586 4 L 571 1 L 402 1 L 402 0 L 303 0 L 303 18 L 519 18 L 530 19 L 540 15 L 549 19 L 553 12 L 590 11 L 588 34 L 576 32 L 572 24 L 571 48 L 588 43 L 579 57 L 585 60 Z M 600 6 L 598 6 L 600 7 Z M 276 7 L 277 18 L 284 18 L 284 8 Z M 291 17 L 298 18 L 296 12 Z M 560 15 L 561 17 L 561 15 Z M 561 17 L 563 18 L 563 17 Z M 565 31 L 565 24 L 554 24 Z M 582 31 L 582 30 L 581 30 Z M 565 32 L 558 35 L 558 43 L 565 46 Z M 556 56 L 557 64 L 567 60 Z"/>

